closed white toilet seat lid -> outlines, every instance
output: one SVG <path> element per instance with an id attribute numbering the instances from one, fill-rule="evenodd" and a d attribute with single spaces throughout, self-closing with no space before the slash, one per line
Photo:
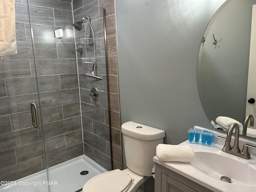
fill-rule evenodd
<path id="1" fill-rule="evenodd" d="M 126 192 L 132 177 L 120 169 L 94 176 L 84 184 L 83 192 Z"/>

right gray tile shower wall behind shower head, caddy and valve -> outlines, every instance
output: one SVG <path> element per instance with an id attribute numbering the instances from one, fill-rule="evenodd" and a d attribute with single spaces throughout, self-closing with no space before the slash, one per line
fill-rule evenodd
<path id="1" fill-rule="evenodd" d="M 76 47 L 82 48 L 82 54 L 77 53 L 79 83 L 81 94 L 82 127 L 84 138 L 84 154 L 103 166 L 106 170 L 111 170 L 110 152 L 110 128 L 108 120 L 108 88 L 106 78 L 106 57 L 104 42 L 104 21 L 103 9 L 98 8 L 98 1 L 94 1 L 90 6 L 83 4 L 82 0 L 73 1 L 74 21 L 78 22 L 83 17 L 91 16 L 91 25 L 95 35 L 96 67 L 94 73 L 102 80 L 86 76 L 91 73 L 92 64 L 81 62 L 81 58 L 94 57 L 93 44 L 80 44 L 80 38 L 92 38 L 90 28 L 86 30 L 86 21 L 83 23 L 81 31 L 75 30 Z M 92 87 L 98 89 L 98 100 L 90 97 Z"/>

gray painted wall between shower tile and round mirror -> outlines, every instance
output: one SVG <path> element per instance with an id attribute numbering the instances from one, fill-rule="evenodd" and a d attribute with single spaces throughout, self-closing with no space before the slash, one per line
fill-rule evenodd
<path id="1" fill-rule="evenodd" d="M 198 94 L 197 60 L 224 1 L 116 0 L 121 123 L 165 130 L 166 144 L 187 140 L 194 125 L 212 127 Z M 154 191 L 153 183 L 144 190 Z"/>

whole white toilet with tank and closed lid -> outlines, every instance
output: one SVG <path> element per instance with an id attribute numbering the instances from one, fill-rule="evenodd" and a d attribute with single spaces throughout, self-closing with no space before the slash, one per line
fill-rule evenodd
<path id="1" fill-rule="evenodd" d="M 82 192 L 142 192 L 144 182 L 152 176 L 156 146 L 164 142 L 165 132 L 131 121 L 122 124 L 121 132 L 128 168 L 94 176 Z"/>

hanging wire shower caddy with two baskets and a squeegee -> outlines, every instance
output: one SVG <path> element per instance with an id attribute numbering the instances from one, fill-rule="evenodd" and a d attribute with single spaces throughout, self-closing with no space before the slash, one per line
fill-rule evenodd
<path id="1" fill-rule="evenodd" d="M 91 74 L 86 74 L 86 76 L 94 77 L 94 78 L 97 78 L 97 79 L 100 79 L 100 80 L 101 80 L 100 77 L 94 75 L 94 68 L 95 68 L 95 65 L 96 65 L 96 53 L 95 53 L 95 43 L 94 43 L 94 30 L 93 30 L 92 25 L 91 25 L 91 16 L 88 16 L 87 18 L 88 18 L 88 19 L 87 19 L 87 23 L 86 23 L 86 27 L 85 27 L 85 31 L 84 31 L 84 37 L 85 37 L 85 38 L 81 38 L 81 39 L 80 39 L 80 43 L 81 43 L 81 44 L 93 44 L 93 48 L 94 48 L 94 58 L 81 58 L 81 59 L 82 59 L 82 63 L 93 64 L 92 73 L 91 73 Z M 86 38 L 86 32 L 87 32 L 89 26 L 90 26 L 90 30 L 92 30 L 92 38 Z M 86 48 L 86 51 L 87 51 L 87 48 Z"/>

